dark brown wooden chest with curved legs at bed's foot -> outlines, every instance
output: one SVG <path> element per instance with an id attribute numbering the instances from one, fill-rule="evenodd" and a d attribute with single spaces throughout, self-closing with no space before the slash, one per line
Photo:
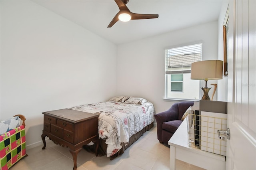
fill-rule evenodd
<path id="1" fill-rule="evenodd" d="M 55 144 L 70 148 L 76 170 L 77 154 L 82 150 L 82 146 L 96 142 L 96 152 L 98 148 L 98 115 L 75 111 L 72 109 L 60 109 L 43 112 L 44 129 L 42 140 L 45 149 L 45 137 L 48 136 Z"/>

